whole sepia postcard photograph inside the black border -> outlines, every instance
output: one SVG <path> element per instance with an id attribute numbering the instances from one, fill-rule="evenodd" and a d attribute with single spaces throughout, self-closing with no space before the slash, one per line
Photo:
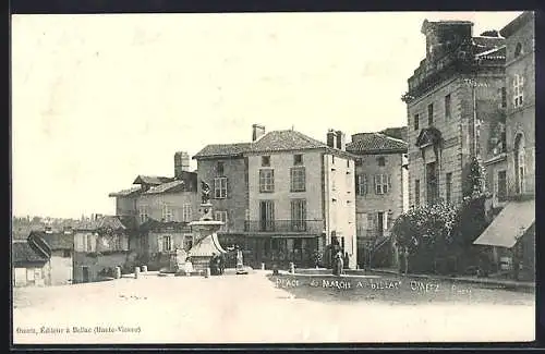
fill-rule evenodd
<path id="1" fill-rule="evenodd" d="M 12 15 L 12 344 L 534 341 L 534 22 Z"/>

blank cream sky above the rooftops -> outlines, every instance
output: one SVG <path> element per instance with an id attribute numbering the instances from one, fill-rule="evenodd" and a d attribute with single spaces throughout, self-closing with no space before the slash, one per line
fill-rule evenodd
<path id="1" fill-rule="evenodd" d="M 175 151 L 249 142 L 253 123 L 320 141 L 404 125 L 424 19 L 479 35 L 518 14 L 14 15 L 13 212 L 114 213 L 108 193 L 172 175 Z"/>

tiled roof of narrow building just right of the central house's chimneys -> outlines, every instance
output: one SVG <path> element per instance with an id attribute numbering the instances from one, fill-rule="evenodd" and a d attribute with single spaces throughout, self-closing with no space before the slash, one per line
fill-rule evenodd
<path id="1" fill-rule="evenodd" d="M 401 139 L 382 133 L 360 133 L 347 144 L 347 151 L 354 154 L 405 152 L 408 144 Z"/>

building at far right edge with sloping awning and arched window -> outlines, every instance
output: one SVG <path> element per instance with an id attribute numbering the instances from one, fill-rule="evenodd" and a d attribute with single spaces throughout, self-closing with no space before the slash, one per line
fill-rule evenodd
<path id="1" fill-rule="evenodd" d="M 499 268 L 535 276 L 535 24 L 524 12 L 500 30 L 506 38 L 506 148 L 488 176 L 500 209 L 475 241 L 493 246 Z M 500 158 L 497 158 L 499 160 Z M 492 164 L 492 163 L 491 163 Z M 520 267 L 520 269 L 519 269 Z"/>

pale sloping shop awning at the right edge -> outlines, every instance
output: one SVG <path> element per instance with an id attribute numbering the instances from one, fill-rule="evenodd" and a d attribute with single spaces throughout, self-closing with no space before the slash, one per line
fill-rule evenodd
<path id="1" fill-rule="evenodd" d="M 535 222 L 535 199 L 509 202 L 473 244 L 511 248 Z"/>

